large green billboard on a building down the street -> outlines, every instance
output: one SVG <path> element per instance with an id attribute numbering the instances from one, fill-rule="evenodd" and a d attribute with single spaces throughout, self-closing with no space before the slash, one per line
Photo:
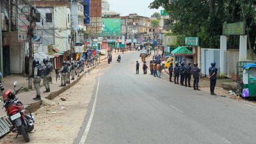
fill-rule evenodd
<path id="1" fill-rule="evenodd" d="M 120 36 L 121 19 L 102 19 L 102 36 Z"/>

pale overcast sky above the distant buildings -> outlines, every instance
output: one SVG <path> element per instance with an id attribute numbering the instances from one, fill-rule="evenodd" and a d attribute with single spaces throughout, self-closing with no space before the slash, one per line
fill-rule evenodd
<path id="1" fill-rule="evenodd" d="M 150 17 L 154 12 L 159 12 L 163 8 L 158 10 L 149 9 L 148 6 L 154 0 L 108 0 L 110 4 L 110 10 L 121 13 L 121 16 L 128 15 L 129 13 L 137 13 L 138 15 Z"/>

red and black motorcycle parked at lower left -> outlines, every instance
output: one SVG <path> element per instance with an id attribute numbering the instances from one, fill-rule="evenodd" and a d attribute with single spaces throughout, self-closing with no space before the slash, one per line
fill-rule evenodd
<path id="1" fill-rule="evenodd" d="M 16 95 L 22 87 L 19 88 L 19 90 L 15 90 L 17 85 L 18 82 L 15 81 L 13 90 L 8 89 L 3 93 L 3 107 L 5 108 L 6 115 L 9 117 L 9 120 L 13 125 L 10 131 L 17 132 L 16 138 L 21 134 L 24 140 L 29 142 L 28 132 L 33 131 L 35 120 L 32 117 L 30 109 L 26 108 L 29 111 L 29 115 L 26 115 L 26 109 L 24 109 L 22 102 L 18 101 Z"/>

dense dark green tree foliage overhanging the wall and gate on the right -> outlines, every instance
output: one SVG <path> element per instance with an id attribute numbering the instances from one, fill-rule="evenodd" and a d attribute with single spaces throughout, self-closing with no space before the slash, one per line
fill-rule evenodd
<path id="1" fill-rule="evenodd" d="M 205 47 L 220 47 L 223 23 L 246 22 L 250 47 L 256 47 L 256 0 L 154 0 L 149 8 L 170 12 L 164 21 L 175 35 L 198 36 Z M 251 49 L 251 48 L 250 48 Z"/>

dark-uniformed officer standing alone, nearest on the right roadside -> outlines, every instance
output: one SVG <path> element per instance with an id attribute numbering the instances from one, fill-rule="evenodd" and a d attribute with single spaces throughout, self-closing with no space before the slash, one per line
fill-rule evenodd
<path id="1" fill-rule="evenodd" d="M 216 95 L 214 93 L 214 89 L 216 86 L 216 79 L 217 79 L 217 71 L 218 68 L 215 68 L 216 63 L 214 61 L 211 62 L 211 67 L 209 67 L 209 79 L 210 79 L 210 90 L 211 95 Z"/>

